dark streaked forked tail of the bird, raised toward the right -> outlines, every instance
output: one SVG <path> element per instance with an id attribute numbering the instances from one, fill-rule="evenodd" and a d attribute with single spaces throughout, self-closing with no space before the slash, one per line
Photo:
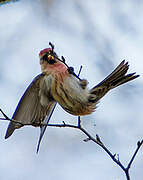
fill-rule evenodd
<path id="1" fill-rule="evenodd" d="M 126 75 L 128 69 L 128 62 L 123 60 L 111 74 L 90 90 L 89 102 L 97 102 L 110 89 L 139 77 L 139 75 L 135 75 L 136 73 Z"/>

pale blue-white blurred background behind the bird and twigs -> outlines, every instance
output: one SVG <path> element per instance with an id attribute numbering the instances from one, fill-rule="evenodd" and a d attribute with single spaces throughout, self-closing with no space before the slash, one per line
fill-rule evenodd
<path id="1" fill-rule="evenodd" d="M 109 92 L 82 125 L 119 154 L 124 165 L 143 138 L 143 1 L 19 0 L 0 5 L 0 108 L 11 117 L 32 79 L 40 73 L 39 51 L 49 41 L 67 63 L 99 83 L 123 60 L 140 77 Z M 1 115 L 2 117 L 2 115 Z M 57 106 L 51 123 L 76 124 Z M 78 130 L 48 127 L 36 154 L 39 128 L 16 130 L 7 140 L 0 122 L 0 179 L 123 180 L 122 170 Z M 143 176 L 143 148 L 131 168 Z"/>

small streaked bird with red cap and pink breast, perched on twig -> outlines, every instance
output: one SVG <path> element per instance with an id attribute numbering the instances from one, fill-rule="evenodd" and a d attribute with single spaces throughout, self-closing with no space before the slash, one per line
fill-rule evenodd
<path id="1" fill-rule="evenodd" d="M 40 142 L 49 120 L 58 103 L 66 112 L 74 116 L 85 116 L 95 111 L 99 100 L 124 83 L 139 77 L 136 73 L 129 73 L 129 64 L 123 60 L 114 71 L 103 81 L 92 88 L 88 88 L 88 81 L 80 79 L 69 67 L 65 58 L 59 58 L 54 51 L 54 45 L 40 51 L 41 73 L 37 75 L 21 97 L 12 119 L 8 125 L 5 138 L 10 137 L 15 129 L 24 124 L 40 127 Z"/>

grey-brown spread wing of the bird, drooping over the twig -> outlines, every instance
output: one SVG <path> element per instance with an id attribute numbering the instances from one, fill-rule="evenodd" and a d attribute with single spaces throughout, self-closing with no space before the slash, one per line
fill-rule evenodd
<path id="1" fill-rule="evenodd" d="M 22 124 L 40 126 L 40 123 L 51 114 L 55 101 L 49 100 L 46 106 L 42 106 L 40 103 L 41 88 L 45 86 L 44 76 L 44 74 L 39 74 L 28 86 L 17 105 L 12 119 Z M 11 136 L 15 129 L 22 127 L 23 125 L 20 123 L 10 122 L 5 138 Z"/>

